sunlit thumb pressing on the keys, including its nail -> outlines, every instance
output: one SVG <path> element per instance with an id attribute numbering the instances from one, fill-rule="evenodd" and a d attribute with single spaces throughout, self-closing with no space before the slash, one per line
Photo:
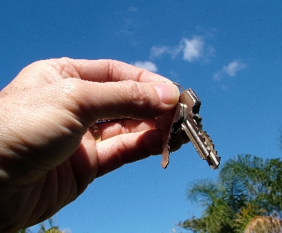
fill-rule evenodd
<path id="1" fill-rule="evenodd" d="M 78 108 L 68 109 L 92 125 L 98 119 L 147 119 L 168 112 L 176 106 L 179 90 L 173 83 L 139 83 L 133 80 L 95 83 L 77 78 L 64 80 L 72 88 L 68 100 Z"/>

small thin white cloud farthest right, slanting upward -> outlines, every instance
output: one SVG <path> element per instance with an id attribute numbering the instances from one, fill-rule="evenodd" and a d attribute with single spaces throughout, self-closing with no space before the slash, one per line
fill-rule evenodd
<path id="1" fill-rule="evenodd" d="M 214 80 L 221 80 L 223 76 L 236 76 L 238 71 L 246 68 L 246 64 L 243 62 L 234 60 L 229 63 L 227 66 L 223 66 L 219 71 L 214 74 Z"/>

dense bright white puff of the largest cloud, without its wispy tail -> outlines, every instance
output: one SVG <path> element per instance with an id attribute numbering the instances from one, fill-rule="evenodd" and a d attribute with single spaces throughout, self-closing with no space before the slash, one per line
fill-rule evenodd
<path id="1" fill-rule="evenodd" d="M 184 38 L 183 59 L 187 61 L 195 61 L 203 55 L 204 41 L 202 37 L 194 37 L 192 40 Z"/>

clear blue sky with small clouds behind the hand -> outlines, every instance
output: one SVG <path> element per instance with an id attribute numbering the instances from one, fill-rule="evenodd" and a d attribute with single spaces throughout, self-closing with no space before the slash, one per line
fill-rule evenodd
<path id="1" fill-rule="evenodd" d="M 0 87 L 27 64 L 117 59 L 192 88 L 222 162 L 281 157 L 282 1 L 1 1 Z M 173 232 L 200 213 L 185 197 L 218 171 L 192 144 L 95 180 L 56 215 L 71 232 Z"/>

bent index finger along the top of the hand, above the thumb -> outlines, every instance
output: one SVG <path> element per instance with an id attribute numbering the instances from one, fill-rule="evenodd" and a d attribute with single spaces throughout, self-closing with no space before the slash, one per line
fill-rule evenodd
<path id="1" fill-rule="evenodd" d="M 159 76 L 142 68 L 115 60 L 68 60 L 83 80 L 94 82 L 117 82 L 135 80 L 141 83 L 171 82 L 168 78 Z"/>

